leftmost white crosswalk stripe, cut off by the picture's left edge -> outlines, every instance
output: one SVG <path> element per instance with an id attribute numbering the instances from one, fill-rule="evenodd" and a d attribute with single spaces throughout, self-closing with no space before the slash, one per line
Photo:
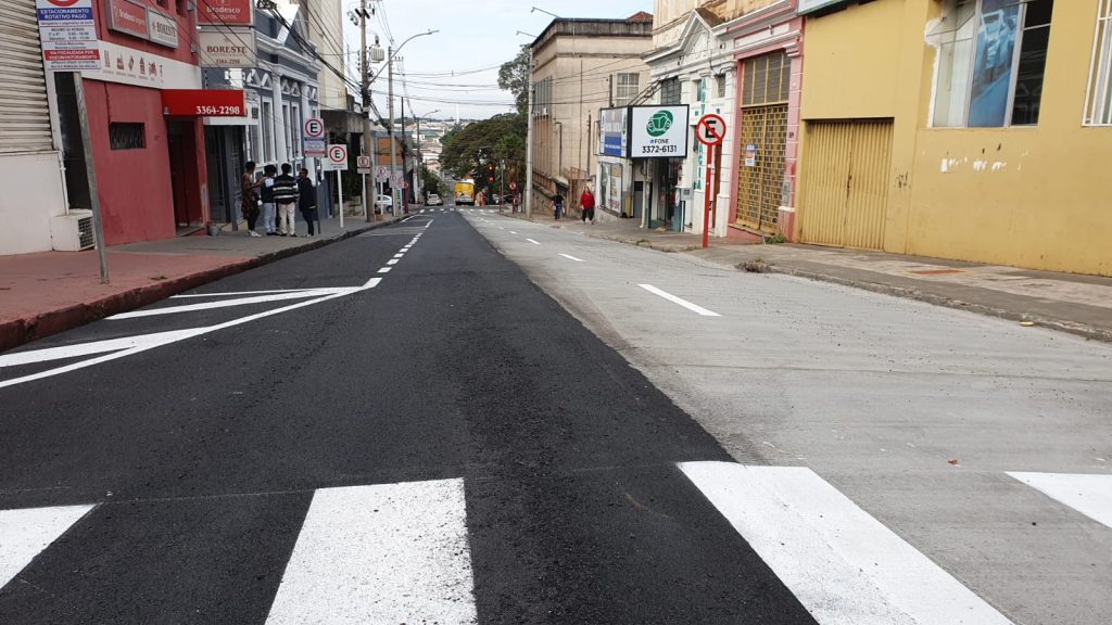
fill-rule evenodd
<path id="1" fill-rule="evenodd" d="M 0 510 L 0 588 L 93 507 Z"/>

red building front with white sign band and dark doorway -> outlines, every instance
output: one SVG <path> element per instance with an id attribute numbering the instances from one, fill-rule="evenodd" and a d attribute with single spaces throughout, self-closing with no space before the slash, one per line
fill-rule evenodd
<path id="1" fill-rule="evenodd" d="M 109 245 L 173 237 L 209 221 L 200 117 L 163 115 L 163 90 L 200 89 L 190 0 L 95 0 L 100 69 L 82 72 Z M 66 182 L 89 206 L 72 75 L 58 73 Z"/>

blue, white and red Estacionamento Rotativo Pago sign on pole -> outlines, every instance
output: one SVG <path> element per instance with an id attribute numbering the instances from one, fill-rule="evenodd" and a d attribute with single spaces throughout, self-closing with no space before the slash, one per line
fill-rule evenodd
<path id="1" fill-rule="evenodd" d="M 92 0 L 37 0 L 42 65 L 47 71 L 100 67 Z"/>

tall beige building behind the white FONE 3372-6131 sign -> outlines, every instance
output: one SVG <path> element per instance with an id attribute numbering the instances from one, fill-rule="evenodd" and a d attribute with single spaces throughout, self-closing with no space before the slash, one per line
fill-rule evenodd
<path id="1" fill-rule="evenodd" d="M 612 162 L 599 172 L 598 116 L 600 109 L 632 103 L 647 86 L 642 54 L 651 47 L 652 31 L 648 13 L 613 20 L 560 18 L 530 44 L 534 206 L 550 206 L 557 190 L 577 197 L 603 178 L 627 175 L 617 169 L 620 163 Z M 617 215 L 618 204 L 602 206 Z"/>

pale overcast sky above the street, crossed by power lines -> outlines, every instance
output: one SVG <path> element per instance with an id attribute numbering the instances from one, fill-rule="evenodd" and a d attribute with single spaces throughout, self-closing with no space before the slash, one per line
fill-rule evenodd
<path id="1" fill-rule="evenodd" d="M 358 6 L 353 0 L 341 1 L 345 13 Z M 388 42 L 384 17 L 396 43 L 430 29 L 439 31 L 414 39 L 398 53 L 401 62 L 395 66 L 395 116 L 397 97 L 408 91 L 416 115 L 445 120 L 456 118 L 457 106 L 461 119 L 485 119 L 514 109 L 514 97 L 498 89 L 498 67 L 517 56 L 520 47 L 553 20 L 540 11 L 530 12 L 532 7 L 564 18 L 624 19 L 637 11 L 653 11 L 653 0 L 368 0 L 368 4 L 377 6 L 376 16 L 368 21 L 368 42 L 378 34 L 384 49 Z M 357 51 L 359 30 L 348 20 L 344 23 L 346 43 Z M 529 36 L 516 34 L 518 30 Z M 405 72 L 405 88 L 399 68 Z M 351 75 L 358 76 L 358 70 Z M 386 117 L 385 71 L 371 91 Z M 406 107 L 406 115 L 414 115 L 408 103 Z M 439 112 L 429 115 L 437 109 Z"/>

